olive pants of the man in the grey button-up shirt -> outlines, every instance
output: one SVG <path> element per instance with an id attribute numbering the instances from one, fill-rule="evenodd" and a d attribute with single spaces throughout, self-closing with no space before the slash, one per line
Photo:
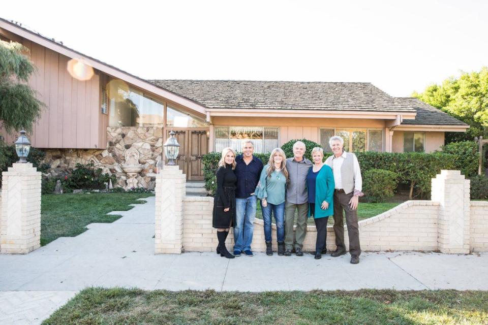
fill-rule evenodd
<path id="1" fill-rule="evenodd" d="M 298 210 L 298 216 L 296 218 L 296 230 L 295 238 L 293 238 L 293 224 L 295 220 L 295 210 Z M 302 248 L 303 240 L 307 235 L 307 216 L 309 214 L 309 204 L 285 204 L 285 248 L 293 249 Z"/>

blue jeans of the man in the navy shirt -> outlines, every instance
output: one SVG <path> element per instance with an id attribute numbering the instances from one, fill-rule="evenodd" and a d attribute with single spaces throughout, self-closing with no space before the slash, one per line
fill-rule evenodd
<path id="1" fill-rule="evenodd" d="M 255 195 L 247 199 L 235 199 L 234 250 L 251 250 L 255 217 Z"/>

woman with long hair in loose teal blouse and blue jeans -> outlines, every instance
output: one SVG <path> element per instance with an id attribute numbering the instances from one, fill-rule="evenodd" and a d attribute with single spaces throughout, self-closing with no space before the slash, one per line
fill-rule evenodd
<path id="1" fill-rule="evenodd" d="M 276 148 L 271 152 L 269 161 L 261 172 L 256 196 L 261 199 L 264 221 L 264 240 L 266 255 L 272 255 L 271 213 L 275 215 L 278 255 L 285 253 L 285 189 L 288 180 L 285 152 Z"/>

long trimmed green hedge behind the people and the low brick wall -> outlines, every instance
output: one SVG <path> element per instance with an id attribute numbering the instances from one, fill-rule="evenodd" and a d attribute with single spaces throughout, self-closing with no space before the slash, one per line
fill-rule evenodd
<path id="1" fill-rule="evenodd" d="M 312 149 L 312 148 L 310 148 Z M 203 169 L 205 176 L 205 188 L 215 193 L 215 172 L 220 160 L 220 152 L 210 152 L 203 156 Z M 263 164 L 266 164 L 269 153 L 256 154 Z M 443 153 L 422 152 L 356 152 L 361 166 L 361 173 L 371 169 L 383 169 L 398 174 L 398 181 L 410 184 L 409 197 L 429 197 L 431 192 L 431 179 L 440 173 L 441 169 L 455 169 L 456 161 L 460 157 Z M 288 157 L 288 155 L 287 155 Z M 471 171 L 468 171 L 471 172 Z"/>

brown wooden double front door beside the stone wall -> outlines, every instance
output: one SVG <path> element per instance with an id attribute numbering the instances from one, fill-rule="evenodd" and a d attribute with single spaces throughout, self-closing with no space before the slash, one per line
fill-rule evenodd
<path id="1" fill-rule="evenodd" d="M 169 137 L 168 131 L 166 138 Z M 179 153 L 176 163 L 179 169 L 187 175 L 188 180 L 203 180 L 202 157 L 208 153 L 208 138 L 206 130 L 173 130 L 179 143 Z M 166 159 L 166 163 L 168 160 Z"/>

